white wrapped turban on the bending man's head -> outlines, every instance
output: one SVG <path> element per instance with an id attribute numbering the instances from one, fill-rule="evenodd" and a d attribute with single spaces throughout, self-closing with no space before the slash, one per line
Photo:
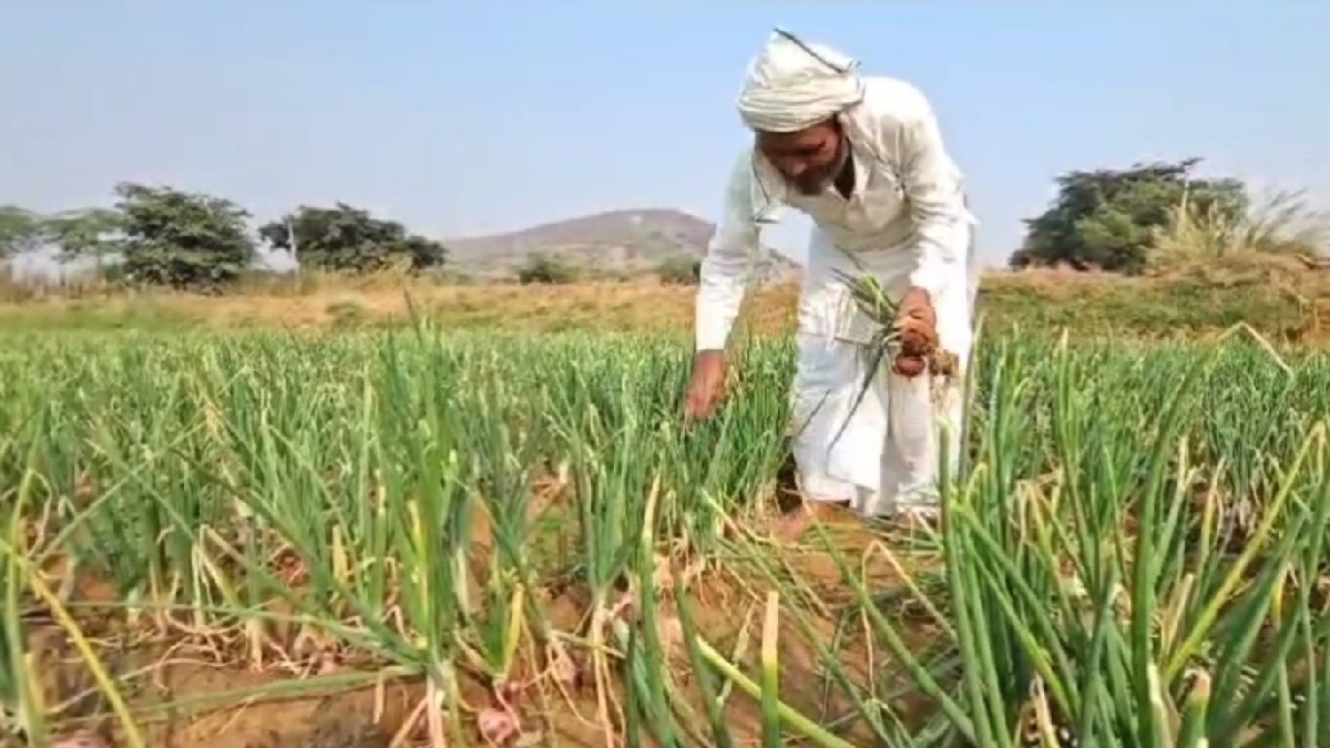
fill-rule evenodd
<path id="1" fill-rule="evenodd" d="M 858 68 L 858 60 L 778 31 L 749 64 L 739 116 L 754 130 L 807 129 L 863 100 Z"/>

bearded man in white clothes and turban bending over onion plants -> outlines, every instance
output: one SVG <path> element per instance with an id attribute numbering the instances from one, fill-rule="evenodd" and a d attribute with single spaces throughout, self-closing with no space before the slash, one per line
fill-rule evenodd
<path id="1" fill-rule="evenodd" d="M 931 523 L 940 445 L 950 465 L 960 450 L 975 220 L 928 100 L 857 71 L 855 60 L 781 31 L 750 63 L 738 110 L 754 144 L 730 176 L 697 294 L 689 419 L 710 417 L 724 397 L 725 345 L 759 228 L 782 206 L 813 218 L 793 391 L 803 499 L 794 534 L 834 507 Z M 872 274 L 899 302 L 900 355 L 867 387 L 867 343 L 880 325 L 859 311 L 841 273 Z M 930 343 L 956 357 L 955 375 L 918 373 Z"/>

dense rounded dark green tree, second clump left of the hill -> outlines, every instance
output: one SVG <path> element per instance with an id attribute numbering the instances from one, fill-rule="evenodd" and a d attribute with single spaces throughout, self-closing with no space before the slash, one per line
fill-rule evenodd
<path id="1" fill-rule="evenodd" d="M 217 291 L 257 257 L 250 214 L 230 200 L 129 182 L 116 196 L 132 282 Z"/>

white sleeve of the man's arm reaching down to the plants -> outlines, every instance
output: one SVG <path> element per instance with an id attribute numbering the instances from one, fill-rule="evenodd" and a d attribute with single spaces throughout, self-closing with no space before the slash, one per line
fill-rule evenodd
<path id="1" fill-rule="evenodd" d="M 702 258 L 697 290 L 697 350 L 725 350 L 753 276 L 761 230 L 753 214 L 753 161 L 739 157 L 730 174 L 725 208 Z"/>

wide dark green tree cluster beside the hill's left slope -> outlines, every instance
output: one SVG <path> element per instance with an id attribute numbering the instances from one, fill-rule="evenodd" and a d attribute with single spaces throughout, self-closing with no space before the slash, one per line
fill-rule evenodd
<path id="1" fill-rule="evenodd" d="M 332 208 L 302 205 L 258 233 L 273 249 L 295 254 L 301 268 L 372 273 L 406 261 L 412 270 L 423 270 L 447 258 L 442 244 L 343 202 Z"/>

